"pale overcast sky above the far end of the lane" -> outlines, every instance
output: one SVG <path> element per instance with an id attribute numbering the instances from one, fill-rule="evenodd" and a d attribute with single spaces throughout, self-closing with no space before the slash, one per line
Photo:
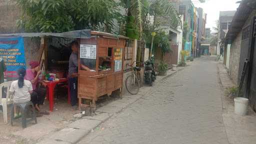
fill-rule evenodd
<path id="1" fill-rule="evenodd" d="M 197 1 L 197 0 L 192 0 Z M 235 3 L 239 0 L 205 0 L 204 3 L 194 3 L 196 7 L 203 8 L 203 11 L 207 13 L 206 27 L 212 29 L 215 26 L 216 20 L 219 17 L 219 11 L 236 10 L 239 4 Z"/>

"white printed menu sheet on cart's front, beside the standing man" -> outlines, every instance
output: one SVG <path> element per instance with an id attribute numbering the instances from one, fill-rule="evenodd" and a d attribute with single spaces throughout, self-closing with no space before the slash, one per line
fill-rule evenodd
<path id="1" fill-rule="evenodd" d="M 80 44 L 80 58 L 96 59 L 96 45 Z"/>

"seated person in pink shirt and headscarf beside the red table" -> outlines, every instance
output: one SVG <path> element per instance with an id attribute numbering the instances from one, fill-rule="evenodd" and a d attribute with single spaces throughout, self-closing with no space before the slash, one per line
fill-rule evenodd
<path id="1" fill-rule="evenodd" d="M 39 84 L 39 74 L 41 73 L 39 62 L 37 61 L 30 61 L 29 62 L 30 68 L 26 69 L 26 75 L 24 79 L 29 80 L 32 83 L 33 91 L 31 93 L 31 101 L 35 106 L 35 109 L 40 112 L 39 105 L 42 105 L 44 102 L 46 88 L 45 84 L 42 83 L 44 87 L 38 88 Z M 45 112 L 46 113 L 46 112 Z M 43 114 L 43 113 L 41 113 Z"/>

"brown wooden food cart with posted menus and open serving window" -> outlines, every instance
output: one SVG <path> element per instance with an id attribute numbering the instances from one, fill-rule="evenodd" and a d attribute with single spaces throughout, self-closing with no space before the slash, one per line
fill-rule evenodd
<path id="1" fill-rule="evenodd" d="M 79 108 L 95 106 L 99 96 L 111 95 L 115 90 L 121 94 L 122 89 L 123 51 L 128 37 L 99 31 L 90 31 L 90 34 L 90 38 L 79 39 Z M 85 99 L 90 102 L 86 103 Z"/>

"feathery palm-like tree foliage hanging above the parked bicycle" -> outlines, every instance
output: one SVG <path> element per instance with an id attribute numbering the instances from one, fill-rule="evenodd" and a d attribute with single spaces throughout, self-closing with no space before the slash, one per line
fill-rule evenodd
<path id="1" fill-rule="evenodd" d="M 168 0 L 120 0 L 121 6 L 126 9 L 127 16 L 133 16 L 140 39 L 148 39 L 150 33 L 159 26 L 159 16 L 171 19 L 171 27 L 176 28 L 180 24 L 180 18 L 173 4 Z M 127 18 L 129 19 L 129 18 Z M 127 20 L 127 23 L 131 21 Z M 159 31 L 159 30 L 158 30 Z"/>

